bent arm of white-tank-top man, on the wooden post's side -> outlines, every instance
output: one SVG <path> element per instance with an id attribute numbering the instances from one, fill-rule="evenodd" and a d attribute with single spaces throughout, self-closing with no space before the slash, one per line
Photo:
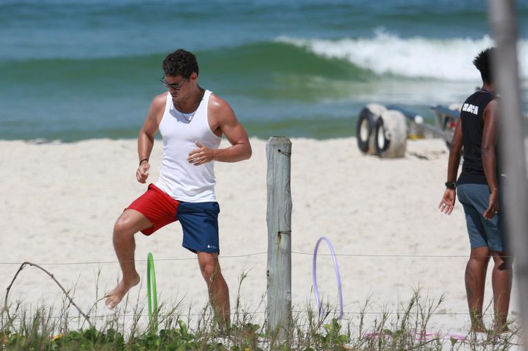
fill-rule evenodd
<path id="1" fill-rule="evenodd" d="M 231 106 L 216 95 L 211 96 L 211 113 L 214 114 L 220 131 L 228 138 L 231 146 L 214 150 L 213 159 L 221 162 L 237 162 L 249 159 L 252 154 L 248 133 L 236 120 Z"/>

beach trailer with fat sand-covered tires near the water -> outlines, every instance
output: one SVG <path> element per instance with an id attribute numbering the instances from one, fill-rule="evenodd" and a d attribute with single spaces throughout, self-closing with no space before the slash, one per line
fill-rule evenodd
<path id="1" fill-rule="evenodd" d="M 407 139 L 426 137 L 440 137 L 450 148 L 460 107 L 460 104 L 431 106 L 433 125 L 418 113 L 399 106 L 367 104 L 358 115 L 355 128 L 358 148 L 364 154 L 383 158 L 404 157 Z"/>

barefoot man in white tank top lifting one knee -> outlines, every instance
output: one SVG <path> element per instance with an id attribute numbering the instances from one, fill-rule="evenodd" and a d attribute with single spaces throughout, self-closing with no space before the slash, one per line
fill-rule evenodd
<path id="1" fill-rule="evenodd" d="M 214 196 L 214 161 L 236 162 L 251 157 L 248 134 L 236 120 L 227 102 L 198 85 L 194 54 L 183 49 L 163 61 L 162 83 L 168 92 L 157 95 L 148 109 L 137 137 L 137 181 L 146 183 L 148 159 L 159 130 L 163 159 L 157 183 L 133 201 L 113 228 L 113 246 L 123 278 L 107 293 L 106 304 L 114 308 L 140 282 L 134 264 L 134 234 L 151 235 L 179 220 L 183 247 L 197 253 L 208 286 L 210 302 L 221 324 L 230 320 L 229 291 L 220 271 L 218 214 Z M 219 148 L 221 136 L 230 141 Z"/>

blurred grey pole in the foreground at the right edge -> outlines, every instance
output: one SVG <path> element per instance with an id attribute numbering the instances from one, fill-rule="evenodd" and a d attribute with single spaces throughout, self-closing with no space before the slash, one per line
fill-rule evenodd
<path id="1" fill-rule="evenodd" d="M 514 249 L 524 350 L 528 351 L 528 192 L 526 158 L 517 63 L 517 33 L 514 0 L 489 0 L 497 52 L 494 57 L 495 84 L 500 99 L 500 161 L 506 174 L 500 191 L 505 199 L 509 246 Z"/>

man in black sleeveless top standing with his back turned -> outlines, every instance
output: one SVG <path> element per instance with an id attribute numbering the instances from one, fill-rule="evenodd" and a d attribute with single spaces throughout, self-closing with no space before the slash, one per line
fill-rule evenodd
<path id="1" fill-rule="evenodd" d="M 489 257 L 493 258 L 492 287 L 495 328 L 507 329 L 509 297 L 511 293 L 511 261 L 507 253 L 501 226 L 503 214 L 499 208 L 499 173 L 497 172 L 497 100 L 492 76 L 494 48 L 486 49 L 474 58 L 481 72 L 483 86 L 465 100 L 456 124 L 449 153 L 448 181 L 439 205 L 441 212 L 451 214 L 456 190 L 464 207 L 467 232 L 470 236 L 470 260 L 465 268 L 465 289 L 470 308 L 471 327 L 485 332 L 482 321 L 484 285 Z M 461 148 L 464 162 L 456 181 Z M 456 182 L 455 182 L 456 181 Z"/>

